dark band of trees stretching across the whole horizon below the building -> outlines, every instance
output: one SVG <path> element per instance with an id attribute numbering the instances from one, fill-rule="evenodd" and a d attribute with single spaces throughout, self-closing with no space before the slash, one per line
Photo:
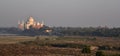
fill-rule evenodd
<path id="1" fill-rule="evenodd" d="M 45 32 L 51 29 L 52 32 Z M 18 28 L 0 28 L 0 33 L 17 35 L 56 35 L 56 36 L 101 36 L 101 37 L 120 37 L 120 28 L 108 27 L 43 27 L 41 29 L 20 30 Z"/>

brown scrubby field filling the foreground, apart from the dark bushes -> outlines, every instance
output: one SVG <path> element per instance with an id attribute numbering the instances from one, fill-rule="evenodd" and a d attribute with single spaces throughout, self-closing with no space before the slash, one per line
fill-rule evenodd
<path id="1" fill-rule="evenodd" d="M 70 46 L 52 46 L 52 45 Z M 71 46 L 74 45 L 74 46 Z M 90 45 L 89 54 L 81 53 L 82 45 Z M 94 47 L 120 47 L 120 38 L 93 36 L 0 36 L 0 56 L 95 56 Z M 120 54 L 120 50 L 102 50 L 106 56 Z"/>

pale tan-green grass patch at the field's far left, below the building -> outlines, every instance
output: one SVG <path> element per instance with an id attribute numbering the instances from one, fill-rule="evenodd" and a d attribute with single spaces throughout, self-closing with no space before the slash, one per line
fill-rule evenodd
<path id="1" fill-rule="evenodd" d="M 24 41 L 32 41 L 35 37 L 28 36 L 0 36 L 0 44 L 15 44 Z"/>

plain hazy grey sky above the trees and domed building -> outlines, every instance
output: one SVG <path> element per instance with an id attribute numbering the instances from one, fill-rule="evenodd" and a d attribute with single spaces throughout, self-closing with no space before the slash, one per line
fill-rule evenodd
<path id="1" fill-rule="evenodd" d="M 29 16 L 48 26 L 120 27 L 120 0 L 0 0 L 0 27 Z"/>

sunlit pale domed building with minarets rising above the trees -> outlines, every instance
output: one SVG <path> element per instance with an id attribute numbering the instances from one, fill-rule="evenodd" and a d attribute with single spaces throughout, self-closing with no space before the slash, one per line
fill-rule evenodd
<path id="1" fill-rule="evenodd" d="M 44 26 L 44 22 L 40 23 L 35 21 L 33 17 L 29 17 L 27 21 L 18 21 L 18 28 L 21 30 L 24 29 L 30 29 L 30 28 L 35 28 L 35 29 L 40 29 Z"/>

